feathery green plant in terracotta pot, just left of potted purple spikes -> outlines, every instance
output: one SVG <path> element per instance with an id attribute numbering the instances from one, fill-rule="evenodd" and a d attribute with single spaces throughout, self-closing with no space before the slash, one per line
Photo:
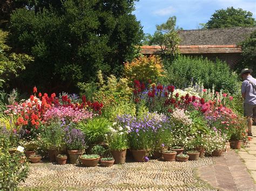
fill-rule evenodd
<path id="1" fill-rule="evenodd" d="M 53 118 L 44 126 L 42 133 L 42 140 L 44 147 L 48 150 L 48 157 L 50 162 L 56 161 L 56 157 L 60 150 L 64 150 L 64 127 L 63 122 L 58 118 Z"/>

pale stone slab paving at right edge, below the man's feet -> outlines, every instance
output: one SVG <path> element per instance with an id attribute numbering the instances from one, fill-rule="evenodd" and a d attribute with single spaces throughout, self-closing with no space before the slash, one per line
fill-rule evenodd
<path id="1" fill-rule="evenodd" d="M 246 148 L 241 148 L 238 154 L 256 183 L 256 126 L 252 127 L 252 135 L 250 144 Z"/>

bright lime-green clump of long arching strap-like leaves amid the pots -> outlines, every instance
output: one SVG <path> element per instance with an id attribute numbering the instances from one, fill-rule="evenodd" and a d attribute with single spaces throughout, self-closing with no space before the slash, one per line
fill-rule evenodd
<path id="1" fill-rule="evenodd" d="M 104 142 L 110 125 L 110 122 L 106 118 L 98 117 L 78 123 L 76 129 L 81 130 L 85 134 L 90 144 L 99 144 Z"/>

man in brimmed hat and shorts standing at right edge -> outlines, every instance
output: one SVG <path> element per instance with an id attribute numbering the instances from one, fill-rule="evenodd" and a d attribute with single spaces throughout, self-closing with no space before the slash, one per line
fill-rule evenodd
<path id="1" fill-rule="evenodd" d="M 242 69 L 241 77 L 244 80 L 241 86 L 241 94 L 244 98 L 244 115 L 247 117 L 248 136 L 252 136 L 253 109 L 256 108 L 256 79 L 251 76 L 252 69 Z"/>

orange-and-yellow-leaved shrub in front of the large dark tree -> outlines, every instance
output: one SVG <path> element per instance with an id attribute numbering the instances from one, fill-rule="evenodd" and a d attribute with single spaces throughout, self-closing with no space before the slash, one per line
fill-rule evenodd
<path id="1" fill-rule="evenodd" d="M 157 78 L 164 75 L 163 64 L 157 56 L 140 56 L 132 62 L 124 64 L 124 75 L 130 82 L 139 80 L 141 82 L 156 82 Z"/>

